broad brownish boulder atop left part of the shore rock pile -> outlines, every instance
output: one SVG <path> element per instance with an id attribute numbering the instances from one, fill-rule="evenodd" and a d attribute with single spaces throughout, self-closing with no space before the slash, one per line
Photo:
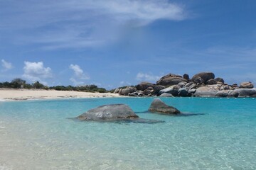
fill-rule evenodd
<path id="1" fill-rule="evenodd" d="M 176 85 L 181 81 L 188 82 L 188 80 L 183 79 L 183 77 L 176 75 L 176 74 L 167 74 L 164 77 L 161 77 L 159 81 L 156 82 L 156 85 L 161 85 L 161 86 L 172 86 Z"/>

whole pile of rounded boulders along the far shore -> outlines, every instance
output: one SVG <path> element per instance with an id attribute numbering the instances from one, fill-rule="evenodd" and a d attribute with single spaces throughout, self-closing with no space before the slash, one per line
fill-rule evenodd
<path id="1" fill-rule="evenodd" d="M 167 74 L 156 84 L 142 82 L 137 86 L 115 89 L 115 94 L 122 96 L 160 96 L 160 97 L 256 97 L 254 85 L 248 82 L 226 84 L 223 78 L 215 78 L 213 72 L 201 72 L 191 79 L 188 74 L 183 77 Z"/>

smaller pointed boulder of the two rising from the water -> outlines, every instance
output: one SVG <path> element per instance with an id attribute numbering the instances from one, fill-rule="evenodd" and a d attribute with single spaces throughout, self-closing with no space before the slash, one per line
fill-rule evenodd
<path id="1" fill-rule="evenodd" d="M 149 107 L 149 111 L 152 113 L 165 113 L 176 115 L 181 113 L 177 108 L 166 105 L 160 98 L 154 98 L 154 101 L 151 103 Z"/>

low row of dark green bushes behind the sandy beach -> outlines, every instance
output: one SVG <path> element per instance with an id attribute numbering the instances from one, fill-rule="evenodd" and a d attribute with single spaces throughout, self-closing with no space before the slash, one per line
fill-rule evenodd
<path id="1" fill-rule="evenodd" d="M 85 91 L 85 92 L 108 92 L 104 88 L 99 88 L 96 85 L 85 85 L 85 86 L 45 86 L 39 81 L 35 81 L 33 84 L 27 84 L 23 79 L 14 79 L 11 82 L 0 82 L 0 88 L 11 88 L 11 89 L 45 89 L 45 90 L 57 90 L 57 91 Z"/>

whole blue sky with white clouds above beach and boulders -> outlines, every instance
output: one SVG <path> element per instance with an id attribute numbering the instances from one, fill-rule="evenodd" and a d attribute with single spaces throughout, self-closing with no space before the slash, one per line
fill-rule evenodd
<path id="1" fill-rule="evenodd" d="M 0 81 L 107 89 L 214 72 L 256 84 L 254 0 L 0 0 Z"/>

